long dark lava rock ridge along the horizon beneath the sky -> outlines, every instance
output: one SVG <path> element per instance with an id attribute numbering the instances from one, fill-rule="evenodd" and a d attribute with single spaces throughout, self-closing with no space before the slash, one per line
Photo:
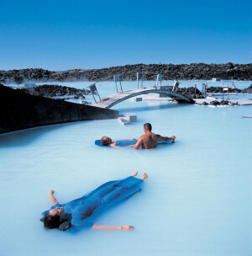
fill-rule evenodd
<path id="1" fill-rule="evenodd" d="M 252 64 L 135 64 L 101 69 L 74 69 L 48 71 L 41 68 L 0 71 L 0 83 L 24 83 L 25 81 L 99 81 L 112 80 L 120 75 L 122 80 L 136 80 L 136 73 L 143 72 L 145 80 L 155 80 L 157 74 L 165 80 L 174 79 L 240 79 L 252 80 Z"/>

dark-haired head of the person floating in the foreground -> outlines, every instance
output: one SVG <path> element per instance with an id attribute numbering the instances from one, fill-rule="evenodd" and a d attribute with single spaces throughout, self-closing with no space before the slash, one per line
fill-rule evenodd
<path id="1" fill-rule="evenodd" d="M 66 220 L 66 213 L 63 207 L 56 207 L 48 211 L 44 217 L 44 225 L 47 228 L 58 228 Z"/>

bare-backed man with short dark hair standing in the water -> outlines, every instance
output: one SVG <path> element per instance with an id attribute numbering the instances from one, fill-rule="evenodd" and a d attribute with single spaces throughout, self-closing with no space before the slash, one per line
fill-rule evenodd
<path id="1" fill-rule="evenodd" d="M 158 141 L 171 141 L 172 140 L 172 142 L 176 142 L 176 136 L 163 137 L 163 136 L 160 136 L 158 134 L 151 132 L 151 130 L 152 130 L 152 126 L 150 125 L 150 123 L 144 124 L 144 133 L 145 134 L 140 136 L 137 143 L 135 145 L 133 145 L 132 147 L 134 147 L 135 149 L 139 149 L 140 147 L 142 147 L 143 149 L 150 149 L 150 148 L 156 148 Z"/>

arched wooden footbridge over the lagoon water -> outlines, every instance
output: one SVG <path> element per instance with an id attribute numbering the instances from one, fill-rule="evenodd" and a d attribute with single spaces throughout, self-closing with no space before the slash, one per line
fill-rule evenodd
<path id="1" fill-rule="evenodd" d="M 98 101 L 95 104 L 92 104 L 92 106 L 103 108 L 103 109 L 110 109 L 116 104 L 119 104 L 120 102 L 130 99 L 142 94 L 149 94 L 149 93 L 159 93 L 162 95 L 166 95 L 170 97 L 171 99 L 176 100 L 178 103 L 188 103 L 188 104 L 194 104 L 194 100 L 186 97 L 185 95 L 181 93 L 176 93 L 175 91 L 172 90 L 167 90 L 167 89 L 134 89 L 134 90 L 129 90 L 129 91 L 124 91 L 124 92 L 118 92 L 109 95 L 108 97 L 105 97 Z"/>

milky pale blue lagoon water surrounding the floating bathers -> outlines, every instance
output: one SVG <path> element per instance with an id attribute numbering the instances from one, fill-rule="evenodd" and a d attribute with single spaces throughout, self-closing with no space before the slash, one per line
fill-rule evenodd
<path id="1" fill-rule="evenodd" d="M 101 94 L 114 93 L 112 83 L 102 85 Z M 0 255 L 251 255 L 252 120 L 242 118 L 251 107 L 125 101 L 114 109 L 134 112 L 138 121 L 82 121 L 0 136 Z M 138 138 L 145 122 L 177 142 L 149 151 L 94 145 L 104 135 Z M 97 219 L 134 231 L 71 235 L 42 227 L 50 189 L 65 203 L 135 170 L 149 174 L 142 191 Z"/>

